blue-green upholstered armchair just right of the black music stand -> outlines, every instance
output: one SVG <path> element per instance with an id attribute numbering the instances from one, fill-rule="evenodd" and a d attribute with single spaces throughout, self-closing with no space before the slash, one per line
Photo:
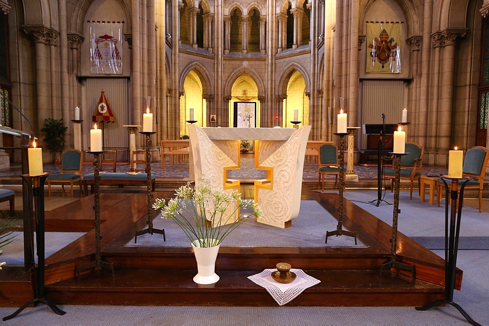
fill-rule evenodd
<path id="1" fill-rule="evenodd" d="M 417 143 L 406 142 L 404 151 L 408 154 L 402 155 L 400 158 L 400 179 L 411 181 L 409 199 L 413 199 L 413 183 L 418 180 L 418 192 L 420 191 L 420 177 L 423 164 L 424 147 Z M 392 163 L 395 164 L 393 158 Z M 396 178 L 396 169 L 384 169 L 384 177 L 391 179 L 391 191 L 394 189 L 394 179 Z"/>

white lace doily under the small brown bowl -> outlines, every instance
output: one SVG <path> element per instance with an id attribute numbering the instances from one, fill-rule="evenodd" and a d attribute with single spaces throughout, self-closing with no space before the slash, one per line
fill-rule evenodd
<path id="1" fill-rule="evenodd" d="M 302 269 L 291 268 L 290 271 L 294 272 L 297 278 L 287 284 L 279 283 L 270 276 L 274 271 L 276 269 L 268 268 L 259 274 L 248 276 L 248 279 L 265 287 L 279 306 L 288 304 L 301 294 L 302 291 L 321 282 L 304 273 Z"/>

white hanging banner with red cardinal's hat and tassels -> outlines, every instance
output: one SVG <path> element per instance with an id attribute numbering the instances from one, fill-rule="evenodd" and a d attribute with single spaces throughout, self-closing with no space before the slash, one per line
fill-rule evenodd
<path id="1" fill-rule="evenodd" d="M 122 74 L 124 21 L 90 21 L 90 72 Z"/>

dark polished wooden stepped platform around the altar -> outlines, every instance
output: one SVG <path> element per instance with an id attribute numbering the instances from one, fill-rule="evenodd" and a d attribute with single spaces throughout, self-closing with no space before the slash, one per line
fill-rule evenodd
<path id="1" fill-rule="evenodd" d="M 157 192 L 155 198 L 172 196 Z M 338 195 L 303 187 L 303 200 L 316 200 L 336 216 Z M 102 259 L 115 267 L 87 271 L 76 267 L 93 259 L 94 231 L 46 258 L 46 294 L 56 304 L 277 306 L 267 291 L 247 276 L 288 262 L 321 283 L 305 290 L 290 306 L 422 306 L 444 297 L 444 260 L 399 233 L 397 257 L 416 266 L 416 279 L 403 272 L 380 272 L 390 259 L 388 224 L 344 200 L 343 224 L 366 247 L 221 247 L 213 285 L 192 281 L 197 265 L 191 247 L 125 247 L 146 226 L 145 194 L 101 194 Z M 93 228 L 93 196 L 46 213 L 47 231 Z M 156 216 L 156 213 L 154 214 Z M 91 224 L 91 226 L 90 226 Z M 325 231 L 324 231 L 325 233 Z M 154 235 L 161 237 L 161 235 Z M 3 267 L 0 306 L 20 306 L 32 298 L 30 273 Z M 462 282 L 458 270 L 457 288 Z"/>

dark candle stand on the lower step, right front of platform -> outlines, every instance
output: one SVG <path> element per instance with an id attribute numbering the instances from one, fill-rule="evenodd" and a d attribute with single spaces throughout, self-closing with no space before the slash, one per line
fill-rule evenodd
<path id="1" fill-rule="evenodd" d="M 409 153 L 390 153 L 394 154 L 396 160 L 396 173 L 394 175 L 394 210 L 392 216 L 392 239 L 391 239 L 391 260 L 383 265 L 380 265 L 380 270 L 390 270 L 391 268 L 398 268 L 410 271 L 412 277 L 415 277 L 414 265 L 404 264 L 398 262 L 397 259 L 397 229 L 398 229 L 398 217 L 400 213 L 399 209 L 399 188 L 400 188 L 400 159 L 403 155 Z"/>

